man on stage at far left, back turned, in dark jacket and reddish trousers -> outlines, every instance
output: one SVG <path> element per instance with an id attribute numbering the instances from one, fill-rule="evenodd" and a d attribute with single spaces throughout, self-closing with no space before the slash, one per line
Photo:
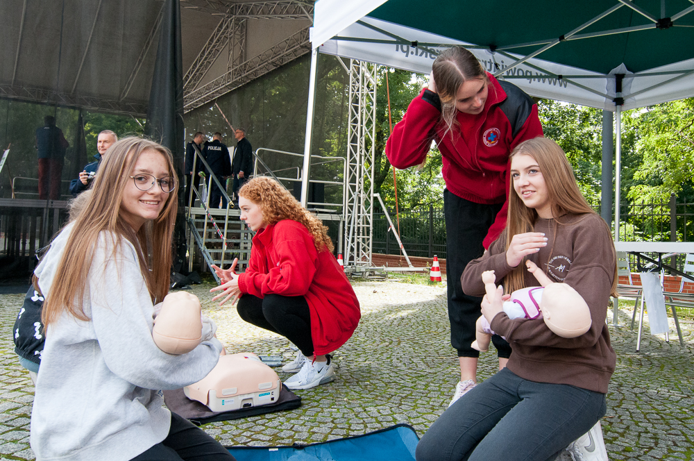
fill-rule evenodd
<path id="1" fill-rule="evenodd" d="M 46 115 L 44 126 L 36 129 L 36 150 L 39 166 L 39 199 L 60 199 L 60 177 L 65 149 L 70 144 L 56 126 L 56 117 Z M 50 192 L 49 192 L 50 189 Z"/>

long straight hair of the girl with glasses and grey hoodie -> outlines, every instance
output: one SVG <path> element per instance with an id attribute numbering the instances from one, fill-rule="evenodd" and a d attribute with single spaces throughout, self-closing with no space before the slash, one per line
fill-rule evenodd
<path id="1" fill-rule="evenodd" d="M 178 210 L 176 188 L 168 194 L 159 217 L 137 232 L 120 215 L 123 191 L 128 182 L 133 181 L 131 171 L 144 151 L 161 153 L 167 162 L 169 176 L 176 177 L 171 153 L 161 144 L 141 137 L 126 137 L 108 149 L 99 165 L 99 174 L 94 178 L 92 193 L 74 220 L 74 227 L 65 243 L 51 293 L 43 305 L 44 325 L 49 326 L 66 311 L 76 319 L 89 320 L 82 300 L 92 267 L 94 246 L 102 231 L 115 236 L 112 256 L 118 253 L 122 239 L 135 246 L 139 267 L 153 301 L 164 299 L 169 292 L 173 251 L 171 234 Z M 109 283 L 109 280 L 104 280 L 104 283 Z"/>

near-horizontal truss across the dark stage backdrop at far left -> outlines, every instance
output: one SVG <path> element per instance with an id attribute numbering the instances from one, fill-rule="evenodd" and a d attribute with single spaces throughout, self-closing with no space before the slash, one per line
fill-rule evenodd
<path id="1" fill-rule="evenodd" d="M 88 97 L 79 94 L 60 93 L 26 86 L 0 84 L 0 98 L 21 99 L 22 101 L 34 101 L 44 104 L 58 104 L 59 106 L 83 108 L 97 112 L 110 112 L 112 114 L 134 115 L 135 117 L 146 117 L 147 115 L 146 104 Z"/>

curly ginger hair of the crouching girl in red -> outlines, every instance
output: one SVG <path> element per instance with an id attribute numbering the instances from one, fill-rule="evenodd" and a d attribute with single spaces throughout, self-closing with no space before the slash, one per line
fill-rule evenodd
<path id="1" fill-rule="evenodd" d="M 257 203 L 262 213 L 264 224 L 276 224 L 282 219 L 291 219 L 303 224 L 313 237 L 316 250 L 330 251 L 335 249 L 328 237 L 328 226 L 301 206 L 293 195 L 273 178 L 260 176 L 244 184 L 239 190 L 242 196 Z"/>

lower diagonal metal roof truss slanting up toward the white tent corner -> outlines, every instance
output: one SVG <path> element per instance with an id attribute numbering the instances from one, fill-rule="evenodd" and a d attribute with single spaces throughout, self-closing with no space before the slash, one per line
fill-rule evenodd
<path id="1" fill-rule="evenodd" d="M 198 87 L 192 92 L 184 90 L 184 110 L 188 112 L 203 106 L 222 94 L 235 90 L 299 56 L 303 56 L 310 50 L 309 27 L 305 27 L 270 49 L 232 67 L 210 83 Z"/>

